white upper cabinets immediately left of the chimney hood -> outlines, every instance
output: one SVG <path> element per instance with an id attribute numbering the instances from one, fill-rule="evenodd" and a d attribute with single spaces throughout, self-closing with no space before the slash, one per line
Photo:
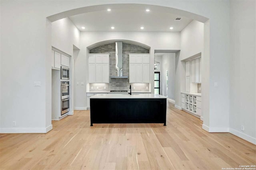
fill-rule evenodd
<path id="1" fill-rule="evenodd" d="M 88 55 L 89 83 L 109 83 L 109 54 Z"/>

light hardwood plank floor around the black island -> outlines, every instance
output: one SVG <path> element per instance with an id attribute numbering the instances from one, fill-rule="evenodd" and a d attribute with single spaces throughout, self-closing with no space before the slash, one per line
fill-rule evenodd
<path id="1" fill-rule="evenodd" d="M 94 124 L 90 111 L 53 121 L 47 134 L 0 134 L 1 170 L 221 170 L 256 164 L 256 146 L 168 102 L 163 124 Z"/>

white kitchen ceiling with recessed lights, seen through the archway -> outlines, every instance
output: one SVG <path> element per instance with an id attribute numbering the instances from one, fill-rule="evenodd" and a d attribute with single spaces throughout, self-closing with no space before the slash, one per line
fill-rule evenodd
<path id="1" fill-rule="evenodd" d="M 182 20 L 174 20 L 182 17 Z M 70 20 L 80 31 L 159 31 L 180 32 L 192 19 L 180 15 L 144 9 L 100 10 L 70 16 Z M 81 27 L 84 26 L 85 29 Z M 115 29 L 112 30 L 111 27 Z M 141 30 L 140 27 L 144 29 Z M 170 30 L 170 27 L 173 27 Z"/>

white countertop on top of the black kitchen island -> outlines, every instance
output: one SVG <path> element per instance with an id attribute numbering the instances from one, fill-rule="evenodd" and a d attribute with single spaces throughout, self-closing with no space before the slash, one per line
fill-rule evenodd
<path id="1" fill-rule="evenodd" d="M 159 94 L 96 94 L 90 98 L 167 98 Z"/>

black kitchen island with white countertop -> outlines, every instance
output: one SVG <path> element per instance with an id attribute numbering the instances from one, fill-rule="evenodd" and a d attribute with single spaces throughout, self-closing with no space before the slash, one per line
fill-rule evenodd
<path id="1" fill-rule="evenodd" d="M 166 98 L 159 94 L 96 94 L 90 97 L 91 126 L 94 123 L 163 123 L 166 126 Z"/>

